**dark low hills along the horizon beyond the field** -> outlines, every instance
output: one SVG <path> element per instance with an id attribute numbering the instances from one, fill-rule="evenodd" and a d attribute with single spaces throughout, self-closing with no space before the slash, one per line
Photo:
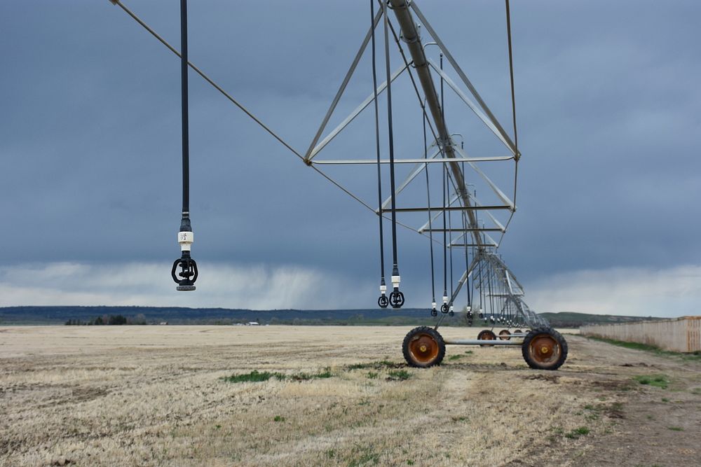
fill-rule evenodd
<path id="1" fill-rule="evenodd" d="M 67 321 L 87 323 L 100 316 L 121 315 L 137 322 L 158 324 L 236 324 L 257 321 L 261 324 L 297 325 L 376 325 L 418 326 L 437 320 L 430 310 L 402 309 L 229 309 L 186 307 L 0 307 L 0 325 L 64 324 Z M 622 323 L 643 316 L 613 316 L 585 313 L 543 313 L 555 327 L 578 327 L 586 323 Z M 107 321 L 107 320 L 105 320 Z M 447 317 L 444 326 L 465 326 L 463 315 Z M 483 327 L 475 320 L 475 327 Z"/>

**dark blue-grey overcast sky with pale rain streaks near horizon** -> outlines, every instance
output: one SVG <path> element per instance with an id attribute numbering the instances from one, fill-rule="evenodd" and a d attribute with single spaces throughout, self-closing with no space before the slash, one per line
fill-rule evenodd
<path id="1" fill-rule="evenodd" d="M 417 3 L 510 131 L 503 3 Z M 179 48 L 178 1 L 125 5 Z M 523 157 L 501 253 L 536 311 L 698 314 L 700 15 L 697 1 L 512 0 Z M 198 0 L 189 23 L 191 61 L 304 152 L 369 4 Z M 1 2 L 0 31 L 0 306 L 374 306 L 376 217 L 194 73 L 200 279 L 177 293 L 177 57 L 107 0 Z M 415 158 L 421 113 L 407 83 L 393 88 L 395 142 Z M 364 57 L 329 127 L 370 90 Z M 503 155 L 457 106 L 446 111 L 466 148 Z M 332 155 L 373 158 L 368 122 Z M 376 202 L 372 169 L 334 176 Z M 399 239 L 406 306 L 428 307 L 428 243 Z"/>

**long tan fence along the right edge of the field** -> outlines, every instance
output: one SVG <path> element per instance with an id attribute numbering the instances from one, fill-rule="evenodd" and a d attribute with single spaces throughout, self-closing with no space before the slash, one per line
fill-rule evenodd
<path id="1" fill-rule="evenodd" d="M 701 316 L 582 326 L 580 334 L 625 342 L 640 342 L 676 352 L 701 351 Z"/>

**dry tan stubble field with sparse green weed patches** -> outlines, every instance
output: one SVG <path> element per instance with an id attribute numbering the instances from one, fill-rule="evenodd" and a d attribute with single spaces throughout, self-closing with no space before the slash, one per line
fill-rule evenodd
<path id="1" fill-rule="evenodd" d="M 700 358 L 566 335 L 556 372 L 417 370 L 408 330 L 0 328 L 0 466 L 701 465 Z"/>

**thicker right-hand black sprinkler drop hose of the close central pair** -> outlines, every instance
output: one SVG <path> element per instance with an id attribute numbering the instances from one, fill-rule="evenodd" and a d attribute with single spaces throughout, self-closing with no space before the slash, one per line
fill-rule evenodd
<path id="1" fill-rule="evenodd" d="M 392 286 L 393 291 L 390 293 L 390 305 L 393 308 L 401 308 L 404 305 L 404 294 L 400 292 L 400 274 L 399 265 L 397 265 L 397 193 L 395 190 L 395 162 L 394 162 L 394 135 L 392 124 L 392 80 L 390 79 L 390 40 L 389 40 L 389 15 L 387 4 L 382 4 L 384 13 L 384 32 L 385 32 L 385 71 L 387 79 L 387 128 L 389 139 L 390 153 L 390 191 L 392 192 Z"/>

